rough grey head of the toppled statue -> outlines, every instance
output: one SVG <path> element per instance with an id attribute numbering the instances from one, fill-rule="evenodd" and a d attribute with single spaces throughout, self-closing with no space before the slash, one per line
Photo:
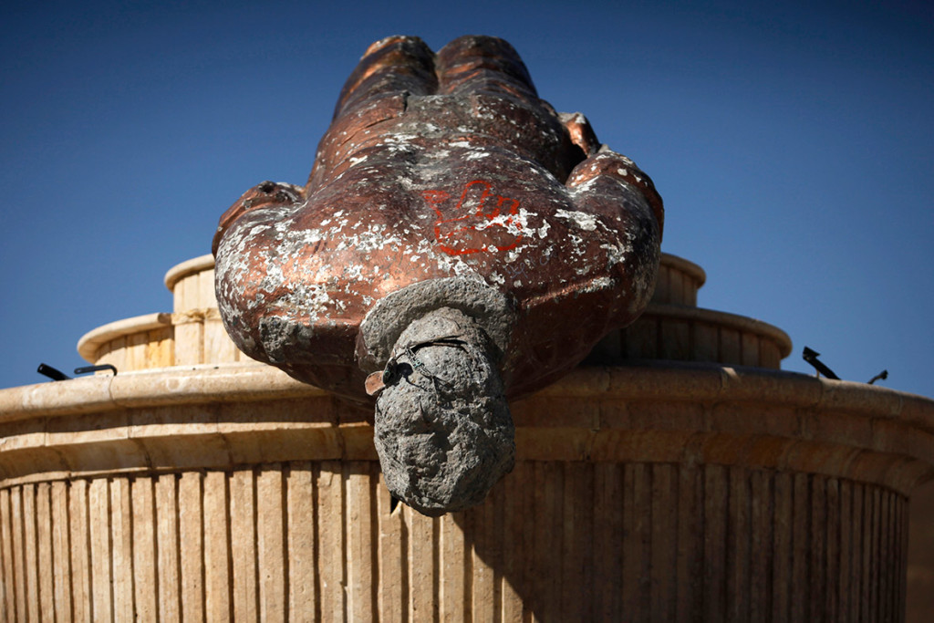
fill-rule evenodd
<path id="1" fill-rule="evenodd" d="M 375 446 L 389 491 L 429 516 L 483 502 L 516 456 L 487 334 L 457 309 L 434 310 L 399 337 L 384 382 Z"/>

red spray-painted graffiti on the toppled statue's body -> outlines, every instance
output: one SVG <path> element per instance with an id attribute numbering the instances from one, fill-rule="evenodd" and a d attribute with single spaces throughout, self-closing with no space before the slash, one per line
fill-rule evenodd
<path id="1" fill-rule="evenodd" d="M 474 179 L 464 185 L 457 205 L 450 204 L 447 191 L 424 191 L 425 201 L 438 215 L 434 237 L 450 255 L 480 251 L 505 251 L 522 240 L 514 217 L 519 211 L 516 199 L 490 191 L 488 181 Z"/>

